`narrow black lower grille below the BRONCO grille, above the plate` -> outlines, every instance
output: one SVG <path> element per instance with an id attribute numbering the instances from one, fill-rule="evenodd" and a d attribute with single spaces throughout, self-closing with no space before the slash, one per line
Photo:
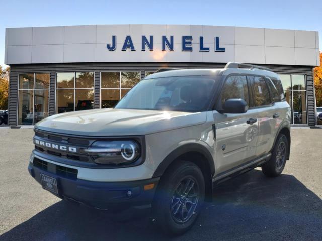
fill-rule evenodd
<path id="1" fill-rule="evenodd" d="M 57 174 L 61 177 L 67 177 L 69 179 L 77 179 L 78 170 L 74 168 L 64 167 L 60 165 L 56 165 L 53 163 L 48 163 L 44 160 L 34 158 L 33 165 L 38 167 L 41 170 L 46 172 L 50 172 L 53 174 Z"/>

